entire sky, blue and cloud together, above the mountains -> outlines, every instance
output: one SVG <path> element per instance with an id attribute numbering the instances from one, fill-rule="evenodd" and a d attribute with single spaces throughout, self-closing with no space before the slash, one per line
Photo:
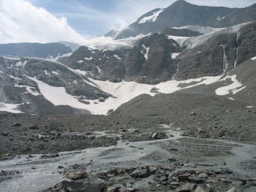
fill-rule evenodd
<path id="1" fill-rule="evenodd" d="M 175 0 L 0 0 L 0 43 L 82 42 L 123 28 Z M 246 7 L 256 0 L 188 0 L 196 5 Z"/>

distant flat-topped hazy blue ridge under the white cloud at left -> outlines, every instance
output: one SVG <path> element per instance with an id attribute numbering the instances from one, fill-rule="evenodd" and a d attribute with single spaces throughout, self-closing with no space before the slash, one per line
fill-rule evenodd
<path id="1" fill-rule="evenodd" d="M 15 55 L 26 57 L 57 57 L 71 53 L 72 49 L 60 43 L 9 43 L 0 44 L 0 55 Z"/>

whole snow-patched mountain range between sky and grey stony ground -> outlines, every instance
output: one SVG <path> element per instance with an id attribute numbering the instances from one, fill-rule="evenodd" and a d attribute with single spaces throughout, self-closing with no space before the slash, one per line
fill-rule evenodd
<path id="1" fill-rule="evenodd" d="M 0 111 L 106 115 L 141 94 L 203 93 L 205 86 L 233 98 L 254 87 L 255 5 L 180 0 L 80 44 L 0 45 Z"/>

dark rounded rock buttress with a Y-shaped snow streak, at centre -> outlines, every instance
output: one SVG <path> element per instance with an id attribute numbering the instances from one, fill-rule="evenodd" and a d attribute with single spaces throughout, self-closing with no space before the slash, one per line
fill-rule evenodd
<path id="1" fill-rule="evenodd" d="M 176 68 L 171 55 L 180 52 L 179 45 L 174 43 L 162 34 L 139 40 L 127 54 L 125 80 L 156 84 L 170 79 Z"/>

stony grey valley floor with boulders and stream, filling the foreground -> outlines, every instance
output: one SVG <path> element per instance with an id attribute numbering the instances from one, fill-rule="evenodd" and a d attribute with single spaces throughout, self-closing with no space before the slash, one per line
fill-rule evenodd
<path id="1" fill-rule="evenodd" d="M 188 108 L 184 119 L 168 118 L 167 114 L 136 118 L 119 115 L 120 110 L 109 116 L 2 112 L 0 188 L 256 190 L 255 130 L 245 128 L 243 134 L 234 131 L 248 124 L 243 118 L 253 122 L 254 108 L 245 109 L 245 115 L 233 121 L 233 128 L 220 123 L 226 116 L 208 114 L 204 122 L 204 110 L 199 114 Z M 230 113 L 225 112 L 233 115 Z M 205 123 L 212 124 L 212 128 L 201 129 Z M 192 127 L 197 129 L 192 131 Z M 247 137 L 249 132 L 251 136 Z"/>

